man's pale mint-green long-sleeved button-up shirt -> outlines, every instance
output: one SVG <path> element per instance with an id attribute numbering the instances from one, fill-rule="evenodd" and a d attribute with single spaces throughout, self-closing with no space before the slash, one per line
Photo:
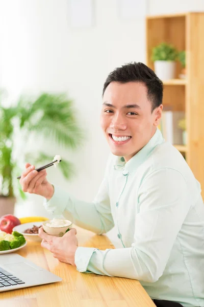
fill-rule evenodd
<path id="1" fill-rule="evenodd" d="M 55 187 L 44 206 L 97 234 L 116 226 L 123 248 L 78 247 L 75 264 L 80 272 L 138 279 L 151 298 L 204 306 L 200 191 L 181 153 L 157 129 L 126 164 L 123 157 L 110 155 L 92 203 Z"/>

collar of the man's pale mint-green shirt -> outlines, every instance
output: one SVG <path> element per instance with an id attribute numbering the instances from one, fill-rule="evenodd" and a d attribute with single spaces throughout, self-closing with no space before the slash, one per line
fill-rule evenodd
<path id="1" fill-rule="evenodd" d="M 164 138 L 160 129 L 157 128 L 154 136 L 151 137 L 149 142 L 142 148 L 140 151 L 136 153 L 127 163 L 125 163 L 123 157 L 116 157 L 114 163 L 114 169 L 122 170 L 122 173 L 125 175 L 127 173 L 134 172 L 137 167 L 142 164 L 151 151 L 157 146 L 164 142 Z"/>

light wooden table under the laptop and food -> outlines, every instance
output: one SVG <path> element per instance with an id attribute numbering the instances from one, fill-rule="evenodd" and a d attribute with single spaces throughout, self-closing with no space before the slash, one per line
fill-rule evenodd
<path id="1" fill-rule="evenodd" d="M 106 235 L 77 228 L 80 246 L 114 248 Z M 60 276 L 63 281 L 0 293 L 5 307 L 154 307 L 138 280 L 80 273 L 59 262 L 38 242 L 29 242 L 19 255 Z"/>

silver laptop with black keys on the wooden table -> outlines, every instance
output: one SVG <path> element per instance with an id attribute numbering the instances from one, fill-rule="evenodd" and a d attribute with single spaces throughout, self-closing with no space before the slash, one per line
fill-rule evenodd
<path id="1" fill-rule="evenodd" d="M 0 292 L 56 281 L 62 278 L 18 254 L 0 255 Z"/>

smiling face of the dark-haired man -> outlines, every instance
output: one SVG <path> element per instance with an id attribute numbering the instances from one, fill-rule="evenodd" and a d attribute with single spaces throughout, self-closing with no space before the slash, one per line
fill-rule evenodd
<path id="1" fill-rule="evenodd" d="M 139 82 L 111 82 L 103 98 L 100 124 L 115 156 L 129 161 L 155 134 L 162 105 L 151 113 L 147 88 Z"/>

